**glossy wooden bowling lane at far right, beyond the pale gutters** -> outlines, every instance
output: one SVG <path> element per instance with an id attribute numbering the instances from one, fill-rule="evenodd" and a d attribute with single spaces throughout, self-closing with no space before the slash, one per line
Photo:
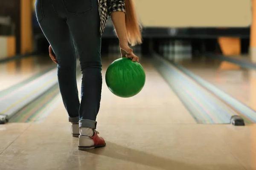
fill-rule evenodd
<path id="1" fill-rule="evenodd" d="M 248 60 L 247 57 L 238 57 Z M 218 59 L 200 58 L 177 62 L 192 73 L 256 110 L 256 73 Z"/>

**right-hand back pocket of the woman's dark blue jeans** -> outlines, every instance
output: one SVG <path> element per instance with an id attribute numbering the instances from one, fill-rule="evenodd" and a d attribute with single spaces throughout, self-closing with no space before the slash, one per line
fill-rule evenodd
<path id="1" fill-rule="evenodd" d="M 71 14 L 85 14 L 92 10 L 92 0 L 62 0 L 66 11 Z"/>

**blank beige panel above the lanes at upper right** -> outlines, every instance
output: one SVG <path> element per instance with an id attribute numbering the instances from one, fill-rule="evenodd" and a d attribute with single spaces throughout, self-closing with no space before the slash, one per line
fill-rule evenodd
<path id="1" fill-rule="evenodd" d="M 146 27 L 247 27 L 251 0 L 135 0 Z"/>

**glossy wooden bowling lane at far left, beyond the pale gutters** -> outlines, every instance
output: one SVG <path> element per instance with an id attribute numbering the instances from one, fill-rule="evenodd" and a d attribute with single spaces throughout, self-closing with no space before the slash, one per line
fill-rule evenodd
<path id="1" fill-rule="evenodd" d="M 0 91 L 54 66 L 49 57 L 31 56 L 0 63 Z"/>

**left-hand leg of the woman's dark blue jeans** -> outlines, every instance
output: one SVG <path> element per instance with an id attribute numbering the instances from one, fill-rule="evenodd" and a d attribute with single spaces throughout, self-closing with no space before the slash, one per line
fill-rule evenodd
<path id="1" fill-rule="evenodd" d="M 56 1 L 53 1 L 56 2 Z M 59 0 L 61 2 L 61 0 Z M 45 37 L 52 45 L 58 61 L 58 83 L 69 121 L 79 122 L 79 96 L 76 84 L 76 54 L 64 6 L 53 8 L 51 0 L 37 0 L 36 14 Z M 56 11 L 58 10 L 58 14 Z"/>

